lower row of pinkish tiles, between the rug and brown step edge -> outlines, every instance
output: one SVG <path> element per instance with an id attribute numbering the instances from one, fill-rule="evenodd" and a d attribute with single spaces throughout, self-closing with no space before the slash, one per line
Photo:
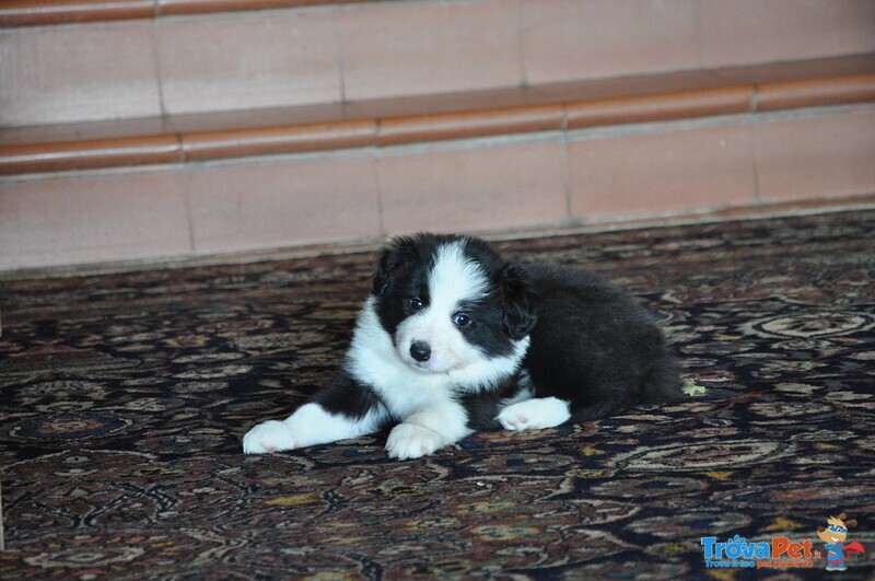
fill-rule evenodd
<path id="1" fill-rule="evenodd" d="M 871 194 L 873 151 L 865 105 L 13 181 L 0 269 Z"/>

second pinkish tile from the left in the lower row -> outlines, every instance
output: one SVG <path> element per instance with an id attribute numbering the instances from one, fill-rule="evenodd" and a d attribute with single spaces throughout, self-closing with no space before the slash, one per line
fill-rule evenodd
<path id="1" fill-rule="evenodd" d="M 192 170 L 199 254 L 380 235 L 373 159 L 327 155 Z"/>

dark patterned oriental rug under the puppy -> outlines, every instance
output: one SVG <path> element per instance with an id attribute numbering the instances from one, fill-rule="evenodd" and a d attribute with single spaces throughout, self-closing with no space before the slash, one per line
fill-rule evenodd
<path id="1" fill-rule="evenodd" d="M 817 579 L 840 512 L 867 553 L 836 574 L 875 574 L 875 211 L 498 246 L 655 310 L 689 400 L 419 461 L 244 456 L 331 375 L 374 253 L 11 281 L 0 576 Z"/>

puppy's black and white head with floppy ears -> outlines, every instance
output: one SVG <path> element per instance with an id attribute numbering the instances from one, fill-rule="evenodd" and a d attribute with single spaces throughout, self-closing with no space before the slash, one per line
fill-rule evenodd
<path id="1" fill-rule="evenodd" d="M 509 356 L 536 322 L 524 270 L 478 239 L 394 240 L 374 274 L 373 294 L 397 356 L 423 373 Z"/>

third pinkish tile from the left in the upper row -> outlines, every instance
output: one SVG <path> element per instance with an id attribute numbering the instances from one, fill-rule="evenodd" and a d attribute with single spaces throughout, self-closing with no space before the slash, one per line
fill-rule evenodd
<path id="1" fill-rule="evenodd" d="M 514 0 L 352 5 L 342 45 L 349 100 L 523 82 Z"/>

